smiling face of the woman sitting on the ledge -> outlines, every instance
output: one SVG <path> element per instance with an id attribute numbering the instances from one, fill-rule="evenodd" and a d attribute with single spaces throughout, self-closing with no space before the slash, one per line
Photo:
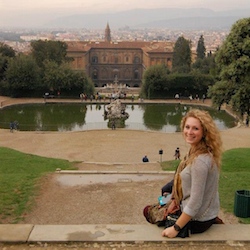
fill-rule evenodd
<path id="1" fill-rule="evenodd" d="M 198 144 L 203 136 L 200 121 L 194 117 L 188 117 L 184 125 L 183 134 L 186 142 L 191 146 Z"/>

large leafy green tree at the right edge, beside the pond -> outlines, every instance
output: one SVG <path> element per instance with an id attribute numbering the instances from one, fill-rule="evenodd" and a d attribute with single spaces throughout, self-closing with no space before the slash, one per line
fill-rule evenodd
<path id="1" fill-rule="evenodd" d="M 231 104 L 241 115 L 250 111 L 250 18 L 238 20 L 215 57 L 219 81 L 209 96 L 219 108 Z"/>

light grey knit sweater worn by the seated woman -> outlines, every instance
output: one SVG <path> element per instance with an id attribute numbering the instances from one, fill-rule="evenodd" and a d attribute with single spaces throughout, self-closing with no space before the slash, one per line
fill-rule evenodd
<path id="1" fill-rule="evenodd" d="M 218 216 L 220 209 L 219 169 L 209 154 L 199 155 L 180 173 L 182 183 L 182 211 L 192 220 L 207 221 Z"/>

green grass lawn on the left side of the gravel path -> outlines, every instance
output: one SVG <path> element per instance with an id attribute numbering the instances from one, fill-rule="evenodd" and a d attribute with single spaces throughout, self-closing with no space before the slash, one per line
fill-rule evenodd
<path id="1" fill-rule="evenodd" d="M 0 224 L 16 223 L 39 190 L 39 180 L 57 168 L 70 169 L 72 163 L 0 148 Z"/>

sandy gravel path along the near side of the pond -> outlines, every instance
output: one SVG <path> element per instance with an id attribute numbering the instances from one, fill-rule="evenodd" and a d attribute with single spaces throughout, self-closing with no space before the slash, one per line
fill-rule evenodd
<path id="1" fill-rule="evenodd" d="M 83 132 L 14 132 L 0 129 L 1 147 L 24 153 L 69 161 L 100 163 L 140 163 L 146 154 L 150 162 L 172 160 L 176 147 L 188 150 L 181 133 L 132 130 L 96 130 Z M 232 128 L 221 132 L 225 150 L 250 147 L 250 129 Z"/>

